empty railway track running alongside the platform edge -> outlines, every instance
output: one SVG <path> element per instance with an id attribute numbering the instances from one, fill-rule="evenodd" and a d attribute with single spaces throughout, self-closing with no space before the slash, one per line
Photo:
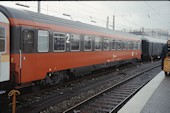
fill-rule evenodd
<path id="1" fill-rule="evenodd" d="M 63 113 L 116 113 L 136 92 L 152 79 L 152 77 L 143 75 L 158 66 L 160 65 L 127 78 L 65 110 Z"/>

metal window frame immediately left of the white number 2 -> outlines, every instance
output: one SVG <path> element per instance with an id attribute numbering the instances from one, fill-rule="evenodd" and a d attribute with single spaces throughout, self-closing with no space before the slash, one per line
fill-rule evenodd
<path id="1" fill-rule="evenodd" d="M 64 44 L 64 50 L 55 50 L 54 49 L 54 38 L 57 38 L 58 36 L 55 36 L 54 34 L 65 34 L 65 37 L 60 37 L 60 38 L 65 38 L 65 44 Z M 65 52 L 66 51 L 66 33 L 63 33 L 63 32 L 53 32 L 53 51 L 54 52 Z"/>

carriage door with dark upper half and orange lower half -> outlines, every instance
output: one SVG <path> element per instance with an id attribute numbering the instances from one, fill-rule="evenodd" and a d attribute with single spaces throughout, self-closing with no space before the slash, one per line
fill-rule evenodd
<path id="1" fill-rule="evenodd" d="M 35 80 L 35 29 L 22 27 L 20 69 L 21 83 Z"/>

